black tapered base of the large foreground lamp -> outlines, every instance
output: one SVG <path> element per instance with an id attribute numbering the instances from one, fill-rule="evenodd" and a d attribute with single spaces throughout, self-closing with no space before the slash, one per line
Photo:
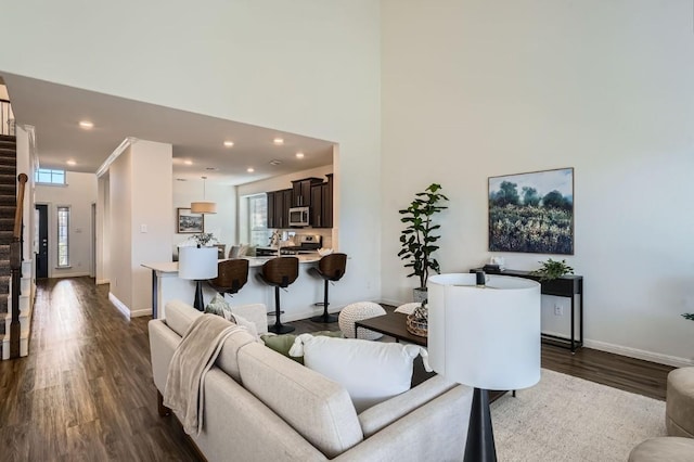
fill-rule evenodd
<path id="1" fill-rule="evenodd" d="M 475 388 L 470 409 L 465 462 L 497 462 L 494 434 L 489 412 L 489 392 Z"/>

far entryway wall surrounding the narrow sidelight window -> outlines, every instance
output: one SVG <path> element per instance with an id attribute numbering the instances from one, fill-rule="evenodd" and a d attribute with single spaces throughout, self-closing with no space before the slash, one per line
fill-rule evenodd
<path id="1" fill-rule="evenodd" d="M 48 277 L 89 275 L 92 258 L 91 204 L 97 201 L 94 174 L 65 172 L 65 187 L 36 184 L 36 203 L 48 204 Z M 57 268 L 57 207 L 69 207 L 69 268 Z"/>

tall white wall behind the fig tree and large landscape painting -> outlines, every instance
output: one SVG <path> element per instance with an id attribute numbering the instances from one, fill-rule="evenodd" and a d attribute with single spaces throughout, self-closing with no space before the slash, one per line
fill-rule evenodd
<path id="1" fill-rule="evenodd" d="M 439 261 L 467 271 L 491 256 L 489 176 L 574 167 L 567 260 L 586 278 L 588 345 L 691 363 L 692 2 L 382 5 L 384 297 L 414 286 L 396 256 L 414 192 L 442 184 Z M 548 257 L 496 255 L 514 269 Z"/>

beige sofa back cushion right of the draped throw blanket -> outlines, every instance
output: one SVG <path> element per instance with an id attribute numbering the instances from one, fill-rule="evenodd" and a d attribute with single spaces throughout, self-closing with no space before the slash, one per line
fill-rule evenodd
<path id="1" fill-rule="evenodd" d="M 329 459 L 363 439 L 349 395 L 337 383 L 257 343 L 239 351 L 239 368 L 244 388 Z"/>

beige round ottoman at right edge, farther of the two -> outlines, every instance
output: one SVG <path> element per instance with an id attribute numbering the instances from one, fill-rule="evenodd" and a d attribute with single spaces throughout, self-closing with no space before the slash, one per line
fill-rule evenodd
<path id="1" fill-rule="evenodd" d="M 694 438 L 694 368 L 668 374 L 665 423 L 670 436 Z"/>

